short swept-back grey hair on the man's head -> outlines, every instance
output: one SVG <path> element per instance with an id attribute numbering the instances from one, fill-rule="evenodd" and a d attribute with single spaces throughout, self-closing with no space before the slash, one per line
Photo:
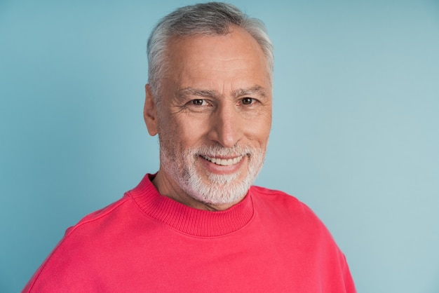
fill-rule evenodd
<path id="1" fill-rule="evenodd" d="M 273 45 L 261 20 L 249 18 L 231 4 L 210 2 L 184 6 L 162 18 L 148 39 L 148 83 L 156 102 L 160 103 L 161 78 L 168 68 L 168 41 L 173 37 L 228 34 L 232 25 L 245 29 L 259 43 L 272 78 Z"/>

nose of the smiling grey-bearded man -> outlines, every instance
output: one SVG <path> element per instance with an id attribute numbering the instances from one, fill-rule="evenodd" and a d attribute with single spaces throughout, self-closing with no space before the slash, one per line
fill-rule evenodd
<path id="1" fill-rule="evenodd" d="M 223 147 L 234 147 L 243 136 L 243 121 L 233 104 L 222 104 L 210 116 L 208 138 Z"/>

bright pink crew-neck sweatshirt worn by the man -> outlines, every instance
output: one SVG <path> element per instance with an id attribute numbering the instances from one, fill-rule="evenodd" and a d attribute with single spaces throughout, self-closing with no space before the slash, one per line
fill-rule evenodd
<path id="1" fill-rule="evenodd" d="M 161 196 L 147 175 L 67 229 L 23 292 L 356 292 L 316 215 L 252 186 L 229 210 Z"/>

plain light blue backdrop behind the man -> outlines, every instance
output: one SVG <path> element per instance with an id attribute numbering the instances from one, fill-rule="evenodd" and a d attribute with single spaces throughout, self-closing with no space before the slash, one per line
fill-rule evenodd
<path id="1" fill-rule="evenodd" d="M 359 292 L 439 292 L 439 2 L 233 3 L 276 46 L 257 184 L 323 219 Z M 158 169 L 144 51 L 186 4 L 0 0 L 1 292 Z"/>

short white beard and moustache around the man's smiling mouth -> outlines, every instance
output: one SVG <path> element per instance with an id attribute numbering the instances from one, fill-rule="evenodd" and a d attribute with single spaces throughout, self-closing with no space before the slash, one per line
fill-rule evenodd
<path id="1" fill-rule="evenodd" d="M 160 163 L 168 179 L 175 182 L 187 195 L 203 203 L 235 203 L 245 196 L 262 166 L 266 146 L 190 147 L 184 144 L 185 137 L 182 135 L 182 129 L 177 127 L 178 123 L 170 120 L 164 121 L 166 125 L 163 125 L 161 119 L 158 123 Z M 173 127 L 169 126 L 171 124 Z M 204 160 L 200 155 L 237 156 L 240 154 L 247 156 L 248 166 L 236 174 L 212 174 L 202 167 L 200 161 Z"/>

